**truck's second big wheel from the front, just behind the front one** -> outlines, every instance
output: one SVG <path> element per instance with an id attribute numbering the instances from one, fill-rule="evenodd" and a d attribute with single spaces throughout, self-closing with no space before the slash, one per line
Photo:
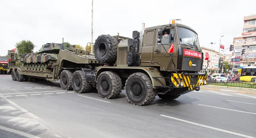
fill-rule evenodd
<path id="1" fill-rule="evenodd" d="M 122 91 L 122 80 L 115 72 L 102 72 L 97 78 L 97 90 L 102 98 L 116 98 Z"/>

